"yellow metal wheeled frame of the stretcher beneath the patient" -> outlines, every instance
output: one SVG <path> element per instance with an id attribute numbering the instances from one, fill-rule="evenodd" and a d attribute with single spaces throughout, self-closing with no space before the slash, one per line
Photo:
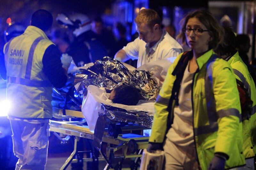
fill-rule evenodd
<path id="1" fill-rule="evenodd" d="M 54 117 L 58 118 L 71 118 L 71 117 L 79 117 L 84 118 L 82 112 L 73 111 L 73 110 L 63 110 L 59 108 L 53 108 Z M 62 133 L 68 136 L 73 136 L 74 139 L 74 150 L 65 161 L 63 166 L 61 166 L 61 170 L 64 170 L 68 167 L 70 163 L 77 163 L 79 161 L 83 162 L 92 162 L 92 161 L 106 161 L 107 165 L 105 166 L 104 170 L 106 169 L 138 169 L 140 166 L 140 157 L 142 156 L 143 149 L 148 147 L 148 137 L 142 136 L 143 129 L 148 129 L 139 125 L 133 126 L 124 126 L 122 127 L 123 132 L 127 132 L 125 134 L 118 134 L 115 138 L 110 136 L 108 133 L 108 129 L 106 128 L 102 142 L 107 143 L 106 147 L 106 155 L 102 152 L 102 148 L 100 150 L 100 154 L 103 157 L 98 158 L 83 158 L 83 160 L 74 159 L 75 156 L 78 154 L 77 151 L 77 142 L 80 138 L 87 138 L 87 139 L 94 139 L 93 133 L 89 130 L 88 126 L 84 125 L 77 125 L 76 122 L 60 122 L 60 121 L 50 121 L 50 130 L 56 134 Z M 140 130 L 140 135 L 131 134 L 133 130 Z M 59 137 L 60 138 L 60 137 Z M 61 138 L 60 138 L 61 139 Z M 122 149 L 122 155 L 116 156 L 115 152 Z M 128 152 L 129 151 L 129 152 Z M 135 161 L 129 168 L 122 168 L 122 164 L 124 159 L 126 158 L 135 158 Z M 120 159 L 120 161 L 113 166 L 114 159 Z"/>

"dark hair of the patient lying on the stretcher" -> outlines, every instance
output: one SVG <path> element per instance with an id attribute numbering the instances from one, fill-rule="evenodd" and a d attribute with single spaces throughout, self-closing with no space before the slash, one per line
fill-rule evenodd
<path id="1" fill-rule="evenodd" d="M 114 90 L 115 96 L 112 99 L 113 103 L 135 106 L 139 100 L 144 99 L 138 89 L 129 85 L 120 85 Z"/>

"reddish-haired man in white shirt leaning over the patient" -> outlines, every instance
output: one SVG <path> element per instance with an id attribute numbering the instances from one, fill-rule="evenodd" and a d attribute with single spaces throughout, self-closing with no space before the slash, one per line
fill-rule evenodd
<path id="1" fill-rule="evenodd" d="M 139 38 L 120 49 L 115 59 L 125 62 L 138 59 L 137 67 L 145 63 L 178 56 L 183 50 L 180 44 L 161 28 L 156 11 L 141 10 L 135 18 Z"/>

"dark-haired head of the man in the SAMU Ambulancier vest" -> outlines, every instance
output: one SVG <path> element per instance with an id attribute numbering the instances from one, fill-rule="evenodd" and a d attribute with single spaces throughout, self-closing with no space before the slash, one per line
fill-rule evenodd
<path id="1" fill-rule="evenodd" d="M 32 14 L 31 26 L 36 26 L 43 31 L 52 27 L 52 14 L 46 10 L 38 10 Z"/>

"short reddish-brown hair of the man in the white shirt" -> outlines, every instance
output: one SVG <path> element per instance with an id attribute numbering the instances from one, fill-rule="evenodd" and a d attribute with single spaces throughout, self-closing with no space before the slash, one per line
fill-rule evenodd
<path id="1" fill-rule="evenodd" d="M 153 27 L 156 24 L 161 26 L 162 21 L 156 11 L 151 9 L 143 9 L 138 13 L 137 17 L 134 19 L 134 22 L 137 25 L 144 23 L 150 27 Z"/>

